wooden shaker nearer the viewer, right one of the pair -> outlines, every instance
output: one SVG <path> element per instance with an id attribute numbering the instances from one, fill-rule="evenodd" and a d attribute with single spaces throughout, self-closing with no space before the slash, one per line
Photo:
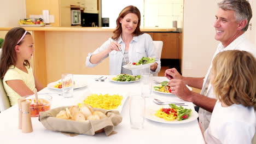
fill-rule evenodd
<path id="1" fill-rule="evenodd" d="M 33 131 L 30 115 L 30 101 L 21 102 L 22 109 L 22 133 L 31 133 Z"/>

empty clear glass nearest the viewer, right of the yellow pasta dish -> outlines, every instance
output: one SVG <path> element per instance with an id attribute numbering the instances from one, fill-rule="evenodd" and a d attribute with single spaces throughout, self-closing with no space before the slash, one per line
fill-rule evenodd
<path id="1" fill-rule="evenodd" d="M 144 125 L 145 99 L 141 96 L 130 98 L 130 124 L 133 129 L 142 129 Z"/>

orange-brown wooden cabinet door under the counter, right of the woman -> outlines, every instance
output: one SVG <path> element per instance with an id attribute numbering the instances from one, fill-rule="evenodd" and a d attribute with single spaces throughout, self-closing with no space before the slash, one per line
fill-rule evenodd
<path id="1" fill-rule="evenodd" d="M 181 59 L 179 55 L 179 33 L 154 33 L 153 40 L 160 40 L 164 43 L 161 58 Z"/>

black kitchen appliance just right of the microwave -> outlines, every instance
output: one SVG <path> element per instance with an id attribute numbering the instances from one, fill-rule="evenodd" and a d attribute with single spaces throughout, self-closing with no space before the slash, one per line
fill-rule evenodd
<path id="1" fill-rule="evenodd" d="M 98 14 L 82 13 L 82 27 L 98 27 Z"/>

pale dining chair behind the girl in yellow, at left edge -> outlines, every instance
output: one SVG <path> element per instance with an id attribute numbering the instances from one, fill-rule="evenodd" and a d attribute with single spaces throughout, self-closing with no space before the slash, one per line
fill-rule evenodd
<path id="1" fill-rule="evenodd" d="M 0 59 L 1 59 L 1 56 L 2 56 L 2 49 L 0 49 Z M 1 64 L 1 61 L 0 61 L 0 64 Z M 10 101 L 3 87 L 3 80 L 0 79 L 0 112 L 8 109 L 9 107 L 10 107 Z"/>

